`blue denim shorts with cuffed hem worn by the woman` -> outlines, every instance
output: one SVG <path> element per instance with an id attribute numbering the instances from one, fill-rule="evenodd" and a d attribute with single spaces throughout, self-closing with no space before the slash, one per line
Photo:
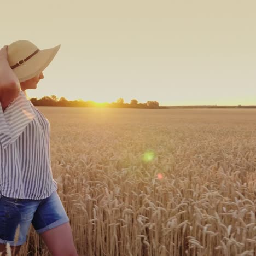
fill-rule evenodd
<path id="1" fill-rule="evenodd" d="M 38 234 L 53 229 L 69 218 L 57 191 L 40 200 L 0 198 L 0 243 L 10 246 L 23 245 L 32 223 Z M 20 224 L 18 242 L 14 242 L 16 228 Z"/>

